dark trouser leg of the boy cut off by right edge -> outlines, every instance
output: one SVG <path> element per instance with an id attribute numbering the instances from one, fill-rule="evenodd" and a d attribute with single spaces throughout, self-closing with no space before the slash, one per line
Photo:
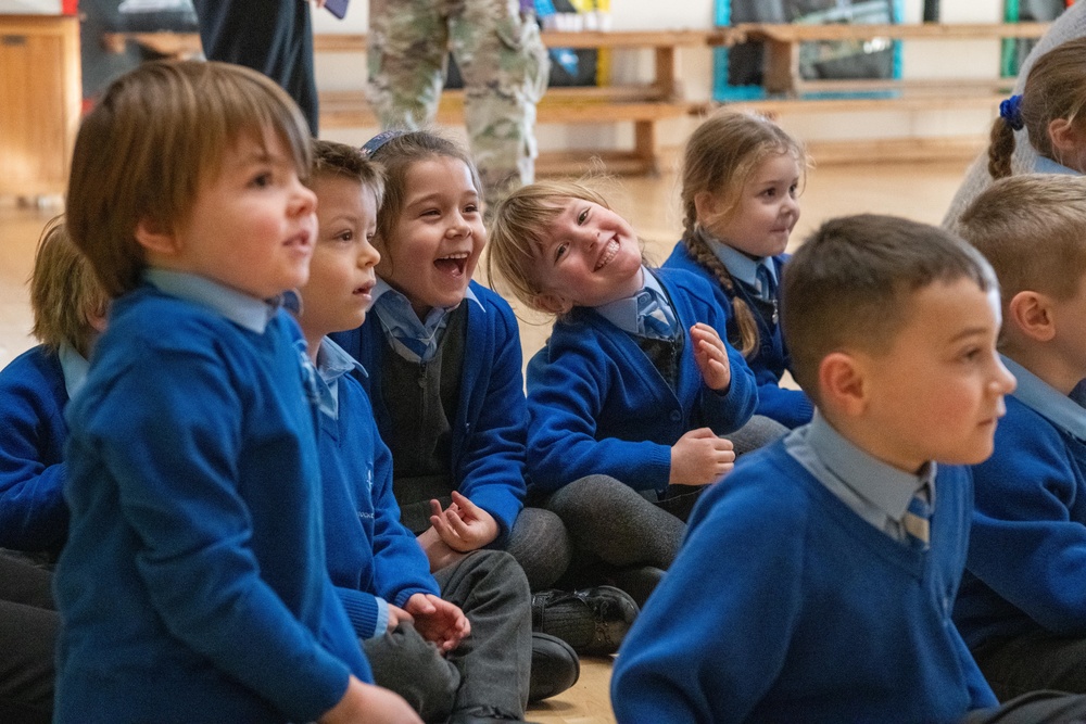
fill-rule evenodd
<path id="1" fill-rule="evenodd" d="M 1086 638 L 1034 632 L 989 642 L 973 658 L 1000 701 L 1037 689 L 1086 694 Z"/>

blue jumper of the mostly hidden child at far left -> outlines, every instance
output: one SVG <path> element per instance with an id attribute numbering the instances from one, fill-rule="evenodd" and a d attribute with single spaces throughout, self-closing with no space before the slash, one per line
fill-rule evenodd
<path id="1" fill-rule="evenodd" d="M 0 371 L 0 547 L 60 552 L 67 537 L 60 358 L 33 347 Z"/>

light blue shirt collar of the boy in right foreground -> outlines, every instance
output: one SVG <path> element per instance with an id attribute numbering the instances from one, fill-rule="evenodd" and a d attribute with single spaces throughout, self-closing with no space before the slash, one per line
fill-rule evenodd
<path id="1" fill-rule="evenodd" d="M 925 483 L 935 509 L 935 462 L 920 475 L 898 470 L 846 440 L 817 411 L 809 424 L 784 439 L 784 447 L 856 515 L 895 541 L 907 539 L 901 520 Z"/>

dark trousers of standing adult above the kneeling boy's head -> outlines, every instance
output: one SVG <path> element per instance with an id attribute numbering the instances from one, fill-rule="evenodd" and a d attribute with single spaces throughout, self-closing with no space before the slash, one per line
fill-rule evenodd
<path id="1" fill-rule="evenodd" d="M 300 0 L 193 0 L 207 60 L 260 71 L 294 99 L 317 135 L 319 109 L 313 74 L 310 5 Z"/>

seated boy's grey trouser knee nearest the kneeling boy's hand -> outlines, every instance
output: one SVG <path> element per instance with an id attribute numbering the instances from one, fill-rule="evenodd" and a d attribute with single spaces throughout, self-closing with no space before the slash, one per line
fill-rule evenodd
<path id="1" fill-rule="evenodd" d="M 409 623 L 362 642 L 378 686 L 402 696 L 426 722 L 444 722 L 453 711 L 460 672 Z"/>

